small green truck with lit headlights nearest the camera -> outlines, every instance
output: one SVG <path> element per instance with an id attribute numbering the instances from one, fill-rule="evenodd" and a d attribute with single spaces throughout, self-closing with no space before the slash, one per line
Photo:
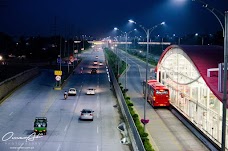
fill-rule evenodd
<path id="1" fill-rule="evenodd" d="M 46 117 L 36 117 L 34 121 L 34 132 L 36 135 L 42 133 L 47 134 L 47 118 Z"/>

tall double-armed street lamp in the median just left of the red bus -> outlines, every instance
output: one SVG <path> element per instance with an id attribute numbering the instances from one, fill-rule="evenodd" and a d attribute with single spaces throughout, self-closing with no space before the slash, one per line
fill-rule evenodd
<path id="1" fill-rule="evenodd" d="M 129 22 L 131 23 L 134 23 L 136 24 L 135 21 L 133 20 L 128 20 Z M 147 37 L 147 44 L 146 44 L 146 84 L 145 84 L 145 101 L 144 101 L 144 120 L 146 120 L 146 102 L 147 102 L 147 72 L 148 72 L 148 51 L 149 51 L 149 38 L 150 38 L 150 33 L 156 29 L 157 27 L 159 27 L 160 25 L 164 25 L 165 22 L 162 22 L 160 24 L 157 24 L 155 26 L 153 26 L 152 28 L 145 28 L 144 26 L 142 25 L 139 25 L 139 27 L 141 27 L 143 29 L 143 31 L 146 33 L 146 37 Z M 145 132 L 145 127 L 146 127 L 146 124 L 144 124 L 144 132 Z"/>

